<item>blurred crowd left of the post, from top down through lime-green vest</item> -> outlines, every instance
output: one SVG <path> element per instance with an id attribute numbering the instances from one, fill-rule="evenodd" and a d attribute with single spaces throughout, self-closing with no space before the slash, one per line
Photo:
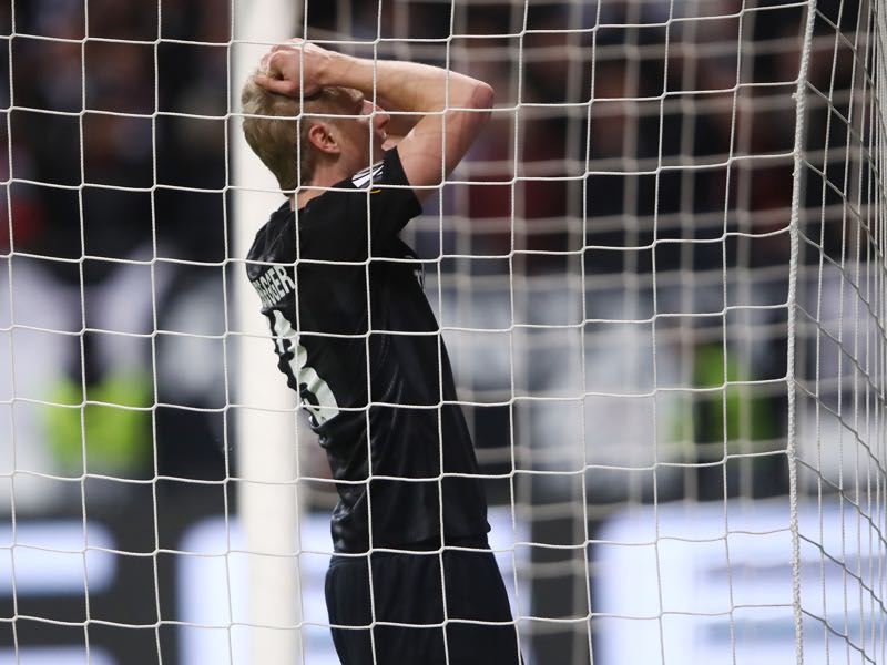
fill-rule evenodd
<path id="1" fill-rule="evenodd" d="M 85 329 L 18 329 L 16 393 L 126 407 L 85 409 L 83 462 L 79 409 L 17 403 L 20 470 L 225 477 L 224 416 L 195 410 L 224 406 L 218 345 L 152 335 L 224 330 L 228 16 L 224 0 L 0 8 L 2 34 L 14 18 L 0 85 L 14 105 L 1 130 L 14 181 L 0 206 L 0 252 L 14 253 L 3 325 L 14 311 L 18 326 Z"/>

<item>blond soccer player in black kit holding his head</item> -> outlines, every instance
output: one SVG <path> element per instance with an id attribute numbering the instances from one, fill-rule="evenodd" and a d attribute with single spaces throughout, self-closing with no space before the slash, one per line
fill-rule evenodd
<path id="1" fill-rule="evenodd" d="M 520 663 L 422 264 L 398 237 L 492 94 L 300 40 L 272 49 L 243 91 L 246 139 L 288 194 L 247 272 L 337 481 L 326 600 L 344 665 Z"/>

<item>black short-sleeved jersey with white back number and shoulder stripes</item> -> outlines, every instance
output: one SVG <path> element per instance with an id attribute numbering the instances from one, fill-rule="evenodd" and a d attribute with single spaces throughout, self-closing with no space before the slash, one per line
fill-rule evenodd
<path id="1" fill-rule="evenodd" d="M 247 258 L 278 367 L 339 481 L 338 552 L 489 531 L 422 266 L 398 237 L 420 213 L 392 150 L 297 213 L 285 203 Z"/>

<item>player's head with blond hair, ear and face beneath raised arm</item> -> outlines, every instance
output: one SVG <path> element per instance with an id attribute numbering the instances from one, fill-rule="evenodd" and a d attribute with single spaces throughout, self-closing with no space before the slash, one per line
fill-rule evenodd
<path id="1" fill-rule="evenodd" d="M 241 103 L 248 115 L 243 121 L 246 141 L 284 191 L 310 183 L 322 166 L 347 177 L 381 158 L 388 114 L 356 90 L 322 88 L 303 106 L 300 100 L 269 92 L 251 76 Z M 296 116 L 303 111 L 299 122 Z"/>

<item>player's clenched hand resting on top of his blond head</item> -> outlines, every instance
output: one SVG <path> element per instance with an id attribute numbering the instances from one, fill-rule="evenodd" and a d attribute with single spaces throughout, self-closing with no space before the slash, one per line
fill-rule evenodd
<path id="1" fill-rule="evenodd" d="M 324 85 L 323 74 L 330 57 L 326 49 L 303 39 L 290 39 L 272 47 L 262 58 L 256 83 L 292 98 L 312 96 Z"/>

